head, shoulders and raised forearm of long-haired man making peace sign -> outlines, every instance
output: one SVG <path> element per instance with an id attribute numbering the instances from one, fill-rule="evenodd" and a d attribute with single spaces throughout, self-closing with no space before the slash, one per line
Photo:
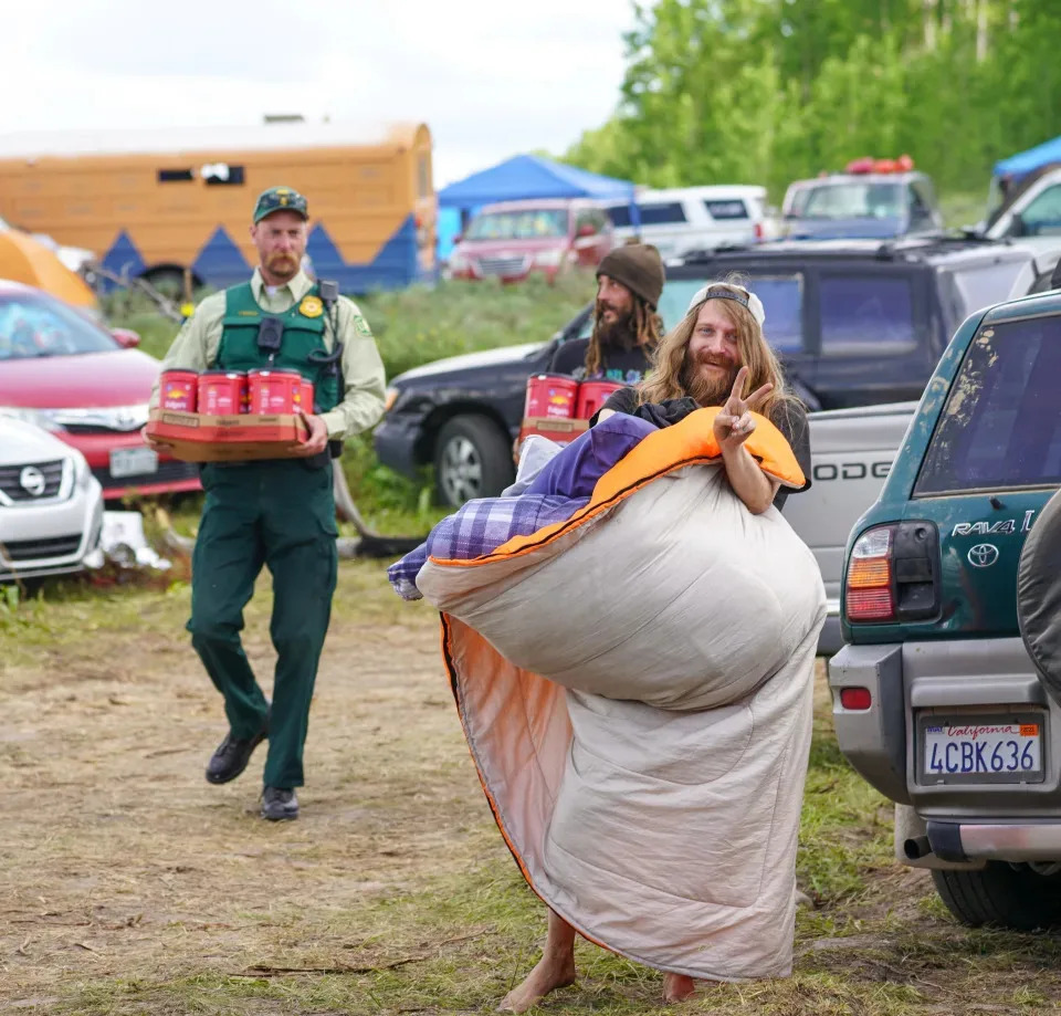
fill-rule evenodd
<path id="1" fill-rule="evenodd" d="M 771 503 L 780 509 L 789 493 L 799 492 L 767 481 L 744 449 L 755 429 L 750 412 L 766 417 L 785 436 L 807 478 L 803 490 L 810 486 L 810 437 L 807 413 L 785 385 L 763 334 L 765 321 L 755 293 L 731 282 L 707 283 L 660 343 L 652 377 L 612 394 L 590 422 L 628 412 L 662 427 L 694 409 L 721 406 L 714 429 L 731 485 L 753 512 Z"/>

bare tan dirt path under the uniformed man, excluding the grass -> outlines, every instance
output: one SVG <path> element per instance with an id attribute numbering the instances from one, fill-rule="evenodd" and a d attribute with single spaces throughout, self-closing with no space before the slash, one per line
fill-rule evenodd
<path id="1" fill-rule="evenodd" d="M 337 608 L 296 823 L 258 816 L 264 748 L 232 784 L 206 783 L 225 724 L 180 610 L 4 669 L 0 1002 L 46 1010 L 63 983 L 283 962 L 284 926 L 308 900 L 338 919 L 411 873 L 503 849 L 479 835 L 490 815 L 437 616 Z M 248 653 L 271 660 L 261 609 L 252 621 Z"/>

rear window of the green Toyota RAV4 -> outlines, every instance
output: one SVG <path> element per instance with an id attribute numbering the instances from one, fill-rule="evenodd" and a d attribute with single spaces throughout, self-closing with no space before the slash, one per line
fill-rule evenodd
<path id="1" fill-rule="evenodd" d="M 955 378 L 915 496 L 1061 484 L 1061 317 L 983 327 Z"/>

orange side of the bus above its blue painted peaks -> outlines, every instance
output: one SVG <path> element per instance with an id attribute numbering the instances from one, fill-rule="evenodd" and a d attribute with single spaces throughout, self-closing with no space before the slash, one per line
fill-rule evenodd
<path id="1" fill-rule="evenodd" d="M 427 193 L 418 193 L 427 160 Z M 207 185 L 199 168 L 212 163 L 244 167 L 242 185 Z M 195 169 L 187 181 L 158 181 L 160 169 Z M 420 217 L 433 264 L 435 199 L 430 135 L 411 147 L 211 150 L 192 154 L 41 157 L 0 160 L 0 216 L 14 227 L 103 258 L 126 230 L 148 268 L 189 265 L 218 226 L 249 263 L 248 235 L 254 198 L 286 185 L 306 196 L 311 224 L 321 222 L 348 263 L 367 263 L 410 212 Z"/>

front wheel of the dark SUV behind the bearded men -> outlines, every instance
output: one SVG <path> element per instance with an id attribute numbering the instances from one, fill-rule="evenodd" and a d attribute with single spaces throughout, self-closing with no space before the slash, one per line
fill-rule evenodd
<path id="1" fill-rule="evenodd" d="M 472 497 L 496 497 L 513 476 L 512 443 L 489 417 L 453 417 L 439 431 L 434 480 L 440 503 L 460 507 Z"/>

